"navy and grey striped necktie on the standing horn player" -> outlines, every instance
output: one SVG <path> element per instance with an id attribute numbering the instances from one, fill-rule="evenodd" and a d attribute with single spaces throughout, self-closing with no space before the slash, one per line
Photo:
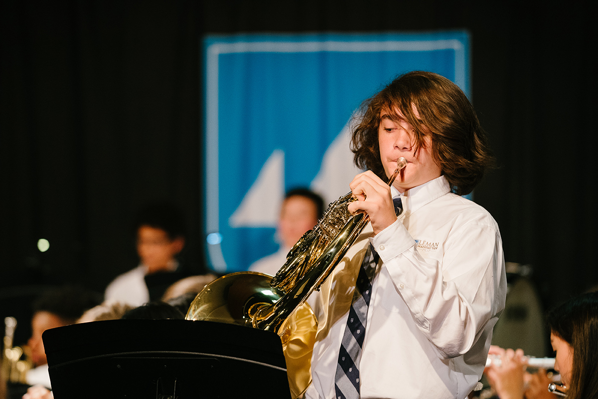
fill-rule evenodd
<path id="1" fill-rule="evenodd" d="M 393 199 L 393 203 L 396 215 L 401 214 L 401 198 Z M 364 343 L 372 282 L 379 259 L 379 255 L 370 244 L 361 267 L 359 267 L 349 317 L 338 352 L 338 364 L 334 377 L 336 399 L 358 399 L 360 395 L 359 360 L 361 360 L 361 348 Z"/>

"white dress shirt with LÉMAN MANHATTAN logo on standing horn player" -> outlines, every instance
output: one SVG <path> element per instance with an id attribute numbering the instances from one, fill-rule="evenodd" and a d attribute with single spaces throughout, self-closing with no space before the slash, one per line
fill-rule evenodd
<path id="1" fill-rule="evenodd" d="M 398 220 L 373 238 L 368 225 L 322 286 L 307 398 L 335 397 L 338 351 L 370 242 L 380 262 L 359 364 L 361 398 L 462 399 L 480 379 L 507 293 L 498 226 L 484 208 L 450 193 L 444 176 L 401 200 Z"/>

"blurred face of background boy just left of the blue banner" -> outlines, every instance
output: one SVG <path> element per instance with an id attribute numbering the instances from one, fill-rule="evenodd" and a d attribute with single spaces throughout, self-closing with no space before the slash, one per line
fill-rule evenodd
<path id="1" fill-rule="evenodd" d="M 137 253 L 141 263 L 148 267 L 148 273 L 169 270 L 176 254 L 183 249 L 184 240 L 170 240 L 162 229 L 141 226 L 137 231 Z"/>

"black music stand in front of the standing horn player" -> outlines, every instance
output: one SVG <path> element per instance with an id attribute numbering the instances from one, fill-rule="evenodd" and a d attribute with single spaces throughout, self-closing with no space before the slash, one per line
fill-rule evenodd
<path id="1" fill-rule="evenodd" d="M 109 320 L 43 334 L 56 399 L 291 397 L 280 337 L 240 325 Z"/>

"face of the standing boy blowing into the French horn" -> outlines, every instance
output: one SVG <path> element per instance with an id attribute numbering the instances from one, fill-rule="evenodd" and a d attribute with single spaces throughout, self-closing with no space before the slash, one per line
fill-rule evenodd
<path id="1" fill-rule="evenodd" d="M 419 114 L 413 107 L 417 118 Z M 380 112 L 380 126 L 378 127 L 378 144 L 380 145 L 380 159 L 386 172 L 390 177 L 396 169 L 396 160 L 404 157 L 407 166 L 396 176 L 393 186 L 401 193 L 410 188 L 417 187 L 425 182 L 440 177 L 441 168 L 432 157 L 431 137 L 426 135 L 422 146 L 414 154 L 415 139 L 414 129 L 405 121 L 401 111 L 396 109 L 396 114 L 403 118 L 392 120 L 390 113 L 386 110 Z"/>

